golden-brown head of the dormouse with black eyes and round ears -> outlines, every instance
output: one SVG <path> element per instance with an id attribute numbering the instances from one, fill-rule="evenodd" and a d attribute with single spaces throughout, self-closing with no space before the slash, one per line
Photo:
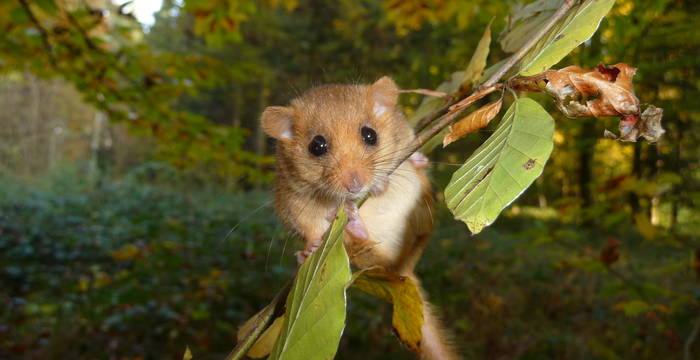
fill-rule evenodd
<path id="1" fill-rule="evenodd" d="M 278 140 L 278 176 L 302 191 L 335 199 L 379 191 L 414 134 L 396 108 L 398 87 L 383 77 L 371 85 L 324 85 L 288 107 L 262 115 Z"/>

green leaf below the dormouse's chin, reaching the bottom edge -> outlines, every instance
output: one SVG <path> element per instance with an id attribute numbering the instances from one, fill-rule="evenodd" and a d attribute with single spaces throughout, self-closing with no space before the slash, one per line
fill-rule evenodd
<path id="1" fill-rule="evenodd" d="M 299 268 L 287 298 L 282 332 L 270 359 L 331 359 L 345 327 L 350 262 L 343 244 L 343 206 L 323 245 Z"/>

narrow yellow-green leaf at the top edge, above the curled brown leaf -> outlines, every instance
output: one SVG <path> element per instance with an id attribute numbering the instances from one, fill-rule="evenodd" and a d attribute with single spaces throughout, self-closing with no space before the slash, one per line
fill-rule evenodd
<path id="1" fill-rule="evenodd" d="M 523 58 L 519 74 L 536 75 L 558 63 L 573 49 L 590 39 L 614 4 L 615 0 L 587 0 L 572 9 L 571 15 L 563 25 L 550 32 L 535 47 L 535 51 Z"/>

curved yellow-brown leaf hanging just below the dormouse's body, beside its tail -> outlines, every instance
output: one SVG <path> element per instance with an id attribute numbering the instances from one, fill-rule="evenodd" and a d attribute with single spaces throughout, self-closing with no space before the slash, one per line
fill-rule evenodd
<path id="1" fill-rule="evenodd" d="M 396 334 L 409 349 L 418 351 L 422 338 L 423 299 L 413 280 L 381 269 L 371 269 L 357 276 L 353 285 L 394 304 L 391 324 Z"/>

